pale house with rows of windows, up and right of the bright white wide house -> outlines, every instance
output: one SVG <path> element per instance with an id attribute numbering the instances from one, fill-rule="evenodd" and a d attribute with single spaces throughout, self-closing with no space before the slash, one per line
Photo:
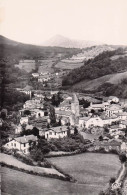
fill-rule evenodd
<path id="1" fill-rule="evenodd" d="M 117 104 L 112 104 L 109 106 L 109 108 L 106 109 L 106 115 L 108 117 L 111 117 L 113 116 L 114 114 L 118 114 L 118 113 L 121 113 L 123 112 L 122 108 L 120 105 L 117 105 Z"/>

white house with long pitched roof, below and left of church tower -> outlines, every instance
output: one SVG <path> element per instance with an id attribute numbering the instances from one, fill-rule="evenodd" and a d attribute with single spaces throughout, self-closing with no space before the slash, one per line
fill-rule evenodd
<path id="1" fill-rule="evenodd" d="M 46 139 L 59 139 L 67 136 L 67 126 L 52 127 L 45 132 Z"/>

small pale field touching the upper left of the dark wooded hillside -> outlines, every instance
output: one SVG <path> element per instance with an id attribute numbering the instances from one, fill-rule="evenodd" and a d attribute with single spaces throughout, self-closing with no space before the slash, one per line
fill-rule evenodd
<path id="1" fill-rule="evenodd" d="M 65 63 L 65 62 L 58 62 L 56 65 L 55 65 L 55 68 L 59 68 L 59 69 L 68 69 L 68 70 L 72 70 L 72 69 L 74 69 L 74 68 L 79 68 L 79 67 L 81 67 L 81 66 L 83 66 L 83 63 L 82 62 L 77 62 L 77 63 L 75 63 L 75 62 L 73 62 L 73 63 Z"/>

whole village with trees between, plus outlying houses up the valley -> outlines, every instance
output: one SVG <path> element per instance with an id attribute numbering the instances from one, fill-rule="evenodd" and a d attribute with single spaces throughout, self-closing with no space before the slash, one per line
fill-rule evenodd
<path id="1" fill-rule="evenodd" d="M 50 77 L 45 75 L 43 81 L 49 81 Z M 38 78 L 39 74 L 32 76 Z M 38 82 L 43 82 L 40 79 Z M 29 100 L 18 111 L 17 123 L 12 124 L 14 133 L 9 135 L 4 148 L 29 154 L 30 140 L 37 142 L 38 137 L 43 137 L 50 142 L 68 137 L 68 132 L 76 132 L 91 143 L 88 151 L 116 151 L 127 155 L 127 105 L 118 97 L 98 99 L 65 91 L 32 91 L 29 87 L 20 92 L 29 95 Z M 1 126 L 2 122 L 1 119 Z M 32 134 L 33 129 L 38 136 Z"/>

